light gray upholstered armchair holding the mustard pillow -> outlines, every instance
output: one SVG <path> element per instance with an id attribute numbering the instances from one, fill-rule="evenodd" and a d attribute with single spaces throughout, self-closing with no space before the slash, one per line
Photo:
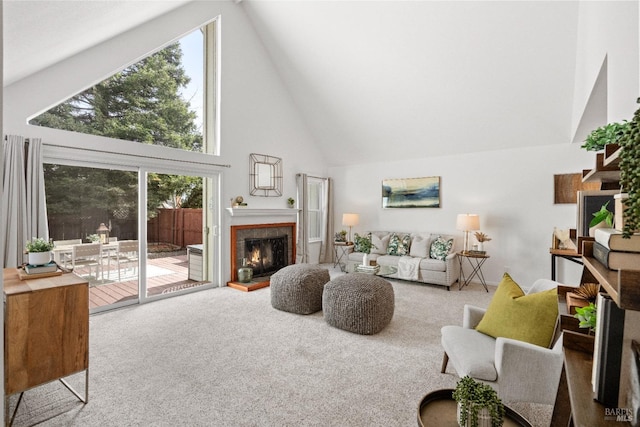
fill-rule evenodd
<path id="1" fill-rule="evenodd" d="M 539 279 L 527 294 L 558 285 Z M 504 401 L 553 404 L 562 371 L 562 336 L 552 348 L 510 338 L 495 339 L 474 329 L 484 313 L 484 309 L 467 304 L 462 326 L 441 329 L 444 348 L 441 372 L 445 373 L 451 362 L 458 376 L 488 382 Z"/>

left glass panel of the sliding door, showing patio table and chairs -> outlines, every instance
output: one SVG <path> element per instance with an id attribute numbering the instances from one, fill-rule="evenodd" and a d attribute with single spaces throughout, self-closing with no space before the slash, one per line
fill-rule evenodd
<path id="1" fill-rule="evenodd" d="M 137 302 L 138 172 L 61 164 L 44 171 L 56 262 L 88 280 L 92 310 Z"/>

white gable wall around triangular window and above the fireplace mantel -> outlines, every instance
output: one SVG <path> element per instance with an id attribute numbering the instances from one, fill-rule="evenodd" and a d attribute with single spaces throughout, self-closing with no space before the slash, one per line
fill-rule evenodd
<path id="1" fill-rule="evenodd" d="M 222 25 L 221 155 L 212 159 L 212 163 L 231 165 L 230 169 L 223 169 L 221 206 L 217 206 L 223 223 L 221 267 L 222 281 L 226 283 L 230 277 L 229 219 L 223 208 L 229 206 L 229 199 L 242 195 L 250 207 L 285 208 L 287 197 L 295 197 L 296 173 L 319 176 L 326 173 L 324 159 L 238 4 L 231 1 L 190 3 L 13 83 L 5 88 L 4 93 L 4 131 L 41 137 L 47 144 L 113 148 L 119 152 L 136 150 L 138 144 L 29 126 L 26 122 L 29 117 L 90 87 L 123 65 L 135 62 L 147 52 L 217 16 L 221 16 Z M 160 148 L 159 151 L 162 151 Z M 282 197 L 249 196 L 250 153 L 283 159 Z"/>

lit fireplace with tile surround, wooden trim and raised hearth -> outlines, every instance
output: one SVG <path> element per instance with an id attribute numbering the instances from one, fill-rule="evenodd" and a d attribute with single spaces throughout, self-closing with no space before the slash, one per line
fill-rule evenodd
<path id="1" fill-rule="evenodd" d="M 245 224 L 231 226 L 231 281 L 244 291 L 269 286 L 269 276 L 296 259 L 296 223 Z M 247 258 L 254 279 L 238 282 L 238 267 Z"/>

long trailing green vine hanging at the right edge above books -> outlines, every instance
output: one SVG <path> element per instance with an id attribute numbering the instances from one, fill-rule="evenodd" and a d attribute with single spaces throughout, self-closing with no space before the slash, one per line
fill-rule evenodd
<path id="1" fill-rule="evenodd" d="M 636 101 L 640 103 L 640 98 Z M 624 238 L 640 230 L 640 109 L 636 110 L 628 128 L 618 140 L 620 150 L 620 186 L 629 195 L 623 200 Z"/>

